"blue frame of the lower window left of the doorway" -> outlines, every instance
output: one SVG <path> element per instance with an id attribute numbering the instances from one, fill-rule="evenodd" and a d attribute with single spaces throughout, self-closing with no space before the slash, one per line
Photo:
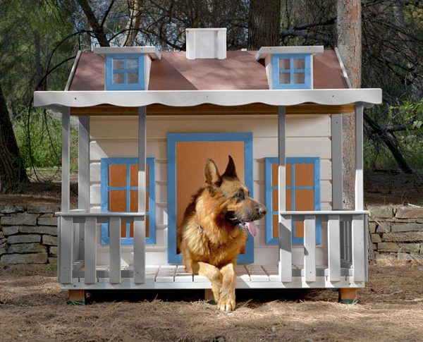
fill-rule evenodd
<path id="1" fill-rule="evenodd" d="M 148 216 L 149 236 L 145 242 L 150 245 L 156 243 L 156 159 L 146 158 L 148 166 Z M 124 186 L 109 186 L 109 170 L 111 165 L 126 166 L 126 179 Z M 109 212 L 109 194 L 114 190 L 125 191 L 126 211 L 130 212 L 130 191 L 138 190 L 137 186 L 131 186 L 131 166 L 138 166 L 138 158 L 102 158 L 101 160 L 101 195 L 102 212 Z M 133 238 L 130 237 L 130 224 L 126 224 L 126 236 L 121 238 L 121 245 L 133 245 Z M 102 224 L 102 245 L 109 245 L 109 224 Z"/>

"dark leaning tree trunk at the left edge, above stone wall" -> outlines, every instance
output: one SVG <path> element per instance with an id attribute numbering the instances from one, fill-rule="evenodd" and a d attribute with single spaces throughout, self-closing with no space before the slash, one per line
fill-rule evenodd
<path id="1" fill-rule="evenodd" d="M 21 183 L 27 183 L 27 173 L 19 154 L 18 144 L 6 99 L 0 84 L 0 192 L 12 193 Z"/>

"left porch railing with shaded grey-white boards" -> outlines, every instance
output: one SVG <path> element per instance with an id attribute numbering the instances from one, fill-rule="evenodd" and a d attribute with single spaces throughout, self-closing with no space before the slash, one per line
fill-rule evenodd
<path id="1" fill-rule="evenodd" d="M 97 283 L 97 224 L 109 224 L 109 282 L 121 283 L 121 223 L 134 224 L 134 283 L 145 282 L 145 214 L 140 212 L 87 213 L 80 210 L 58 212 L 59 283 L 72 283 L 77 231 L 84 232 L 84 282 Z M 77 230 L 77 225 L 84 225 Z M 80 228 L 80 227 L 79 227 Z M 80 268 L 82 265 L 78 264 Z"/>

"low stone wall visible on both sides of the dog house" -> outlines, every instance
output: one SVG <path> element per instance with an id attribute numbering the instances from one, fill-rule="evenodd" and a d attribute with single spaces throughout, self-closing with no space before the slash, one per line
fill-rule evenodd
<path id="1" fill-rule="evenodd" d="M 376 261 L 423 260 L 423 207 L 369 207 Z M 57 262 L 59 207 L 0 205 L 0 264 Z"/>

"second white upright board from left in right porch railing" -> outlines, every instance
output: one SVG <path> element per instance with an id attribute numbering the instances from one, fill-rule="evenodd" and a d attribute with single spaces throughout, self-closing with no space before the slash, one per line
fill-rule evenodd
<path id="1" fill-rule="evenodd" d="M 316 281 L 316 216 L 304 216 L 305 281 Z"/>

